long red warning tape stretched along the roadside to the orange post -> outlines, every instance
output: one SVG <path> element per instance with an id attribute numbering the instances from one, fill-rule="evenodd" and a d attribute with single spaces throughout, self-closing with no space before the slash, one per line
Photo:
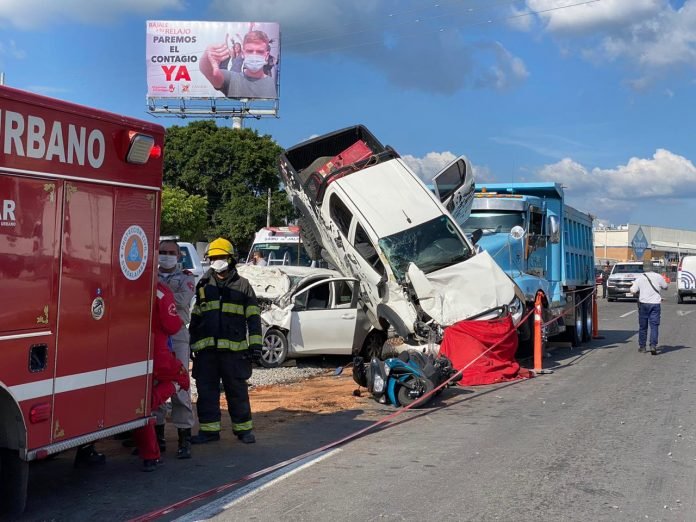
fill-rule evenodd
<path id="1" fill-rule="evenodd" d="M 534 310 L 530 310 L 527 312 L 527 314 L 522 317 L 520 320 L 519 324 L 524 323 L 529 316 L 534 312 Z M 321 446 L 320 448 L 316 448 L 313 450 L 308 451 L 307 453 L 303 453 L 302 455 L 298 455 L 296 457 L 292 457 L 290 459 L 284 460 L 283 462 L 279 462 L 277 464 L 274 464 L 272 466 L 269 466 L 267 468 L 260 469 L 258 471 L 255 471 L 253 473 L 250 473 L 248 475 L 244 475 L 241 478 L 238 478 L 237 480 L 234 480 L 232 482 L 228 482 L 227 484 L 223 484 L 222 486 L 218 486 L 213 489 L 209 489 L 207 491 L 203 491 L 202 493 L 199 493 L 198 495 L 194 495 L 192 497 L 186 498 L 184 500 L 180 500 L 179 502 L 175 502 L 174 504 L 171 504 L 169 506 L 157 509 L 155 511 L 151 511 L 149 513 L 146 513 L 144 515 L 140 515 L 139 517 L 132 518 L 129 522 L 146 522 L 149 520 L 155 520 L 159 517 L 168 515 L 172 513 L 173 511 L 176 511 L 177 509 L 182 509 L 187 506 L 190 506 L 194 502 L 198 502 L 199 500 L 203 500 L 204 498 L 208 498 L 210 496 L 216 495 L 218 493 L 222 493 L 223 491 L 227 491 L 228 489 L 234 488 L 235 486 L 238 486 L 240 484 L 243 484 L 244 482 L 248 482 L 250 480 L 253 480 L 255 478 L 261 477 L 263 475 L 267 475 L 268 473 L 271 473 L 273 471 L 276 471 L 280 468 L 283 468 L 285 466 L 289 466 L 290 464 L 294 464 L 295 462 L 298 462 L 302 459 L 305 459 L 307 457 L 311 457 L 312 455 L 316 455 L 317 453 L 321 453 L 322 451 L 326 451 L 331 448 L 335 448 L 337 446 L 340 446 L 341 444 L 344 444 L 346 442 L 349 442 L 353 439 L 356 439 L 363 435 L 364 433 L 367 433 L 368 431 L 376 428 L 377 426 L 381 426 L 382 424 L 385 424 L 387 421 L 390 421 L 394 419 L 395 417 L 398 417 L 399 415 L 403 414 L 403 412 L 410 410 L 411 408 L 414 408 L 418 404 L 422 403 L 424 400 L 429 398 L 431 395 L 435 394 L 445 386 L 447 386 L 450 382 L 452 382 L 454 379 L 459 377 L 464 370 L 466 370 L 469 366 L 471 366 L 473 363 L 475 363 L 477 360 L 479 360 L 481 357 L 486 355 L 488 352 L 490 352 L 493 348 L 497 347 L 500 343 L 502 343 L 505 339 L 508 338 L 509 335 L 512 333 L 517 333 L 517 330 L 510 330 L 507 334 L 505 334 L 497 343 L 493 344 L 490 348 L 487 350 L 481 352 L 478 356 L 476 356 L 474 359 L 472 359 L 464 368 L 459 370 L 457 373 L 452 375 L 449 379 L 447 379 L 445 382 L 440 384 L 437 388 L 429 391 L 422 397 L 420 397 L 418 400 L 412 402 L 408 406 L 404 406 L 403 408 L 399 408 L 398 410 L 394 411 L 393 413 L 390 413 L 389 415 L 386 415 L 385 417 L 382 417 L 380 420 L 375 421 L 374 423 L 370 424 L 369 426 L 366 426 L 358 431 L 355 431 L 349 435 L 346 435 L 345 437 L 335 440 L 334 442 L 330 442 L 328 444 L 325 444 L 324 446 Z"/>

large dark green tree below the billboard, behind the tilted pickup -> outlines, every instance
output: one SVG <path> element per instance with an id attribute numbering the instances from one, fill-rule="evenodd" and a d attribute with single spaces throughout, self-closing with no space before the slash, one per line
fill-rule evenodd
<path id="1" fill-rule="evenodd" d="M 295 215 L 280 192 L 276 164 L 281 151 L 270 136 L 250 129 L 218 127 L 212 121 L 173 126 L 167 130 L 164 179 L 207 198 L 208 239 L 227 237 L 244 250 L 266 225 L 269 188 L 271 224 L 283 225 Z"/>

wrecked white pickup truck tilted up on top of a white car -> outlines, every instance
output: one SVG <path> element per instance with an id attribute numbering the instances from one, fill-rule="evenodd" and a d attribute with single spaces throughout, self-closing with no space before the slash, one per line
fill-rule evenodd
<path id="1" fill-rule="evenodd" d="M 452 219 L 471 206 L 466 158 L 435 177 L 436 196 L 396 151 L 355 126 L 288 149 L 279 170 L 305 235 L 360 282 L 360 302 L 385 338 L 439 344 L 464 319 L 522 317 L 519 288 Z"/>

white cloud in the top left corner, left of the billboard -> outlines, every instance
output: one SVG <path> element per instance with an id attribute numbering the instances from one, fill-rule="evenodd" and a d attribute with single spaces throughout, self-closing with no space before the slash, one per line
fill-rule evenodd
<path id="1" fill-rule="evenodd" d="M 23 29 L 66 21 L 107 24 L 123 15 L 150 15 L 165 9 L 183 10 L 184 6 L 184 0 L 2 0 L 0 22 Z"/>

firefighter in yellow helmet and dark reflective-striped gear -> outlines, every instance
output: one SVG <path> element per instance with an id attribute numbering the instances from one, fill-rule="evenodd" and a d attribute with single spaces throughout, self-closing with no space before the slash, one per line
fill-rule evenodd
<path id="1" fill-rule="evenodd" d="M 196 286 L 189 326 L 200 425 L 191 442 L 220 440 L 222 379 L 232 431 L 239 440 L 251 444 L 256 438 L 246 380 L 251 377 L 252 361 L 261 359 L 259 307 L 253 288 L 237 273 L 232 243 L 223 238 L 214 240 L 206 257 L 211 268 Z"/>

